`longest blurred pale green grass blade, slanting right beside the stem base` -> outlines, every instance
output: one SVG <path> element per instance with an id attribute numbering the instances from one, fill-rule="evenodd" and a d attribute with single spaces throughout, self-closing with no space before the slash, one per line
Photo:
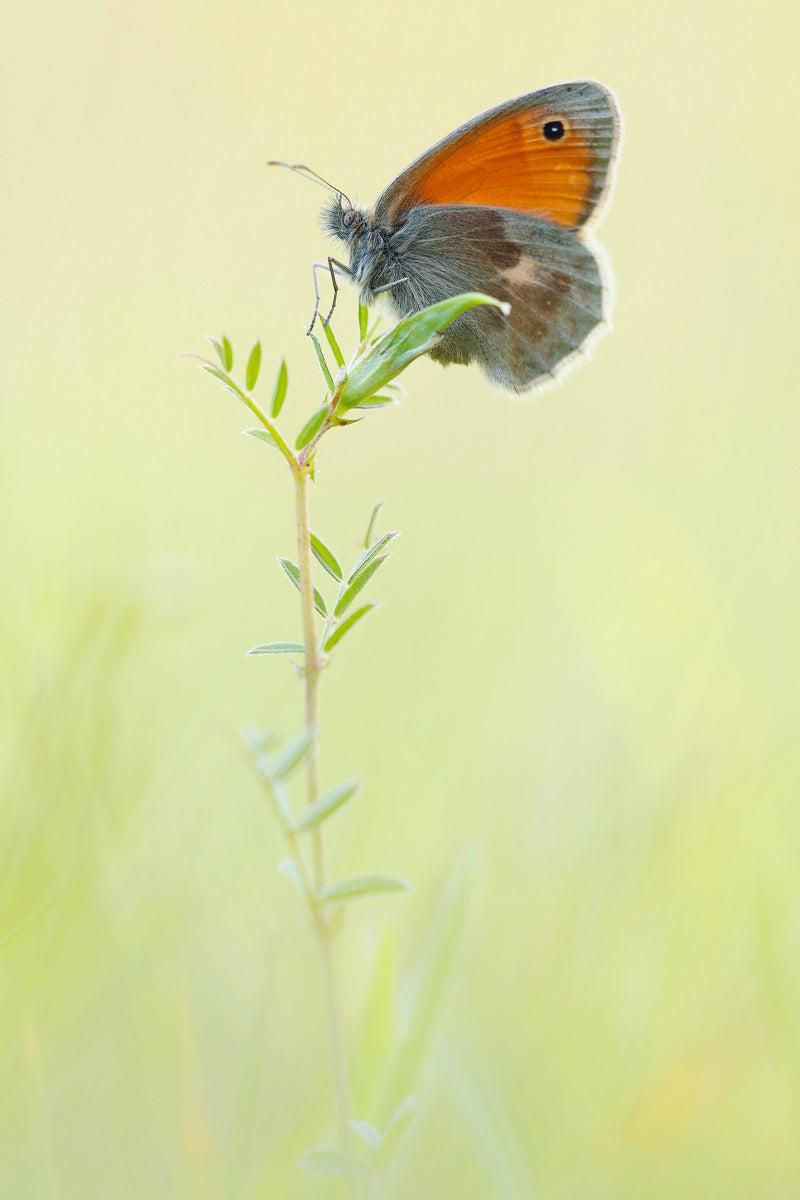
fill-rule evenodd
<path id="1" fill-rule="evenodd" d="M 389 1124 L 389 1118 L 401 1100 L 415 1091 L 464 930 L 474 872 L 475 853 L 469 850 L 458 862 L 437 913 L 414 1010 L 405 1036 L 397 1048 L 380 1108 L 378 1123 L 381 1128 Z"/>

